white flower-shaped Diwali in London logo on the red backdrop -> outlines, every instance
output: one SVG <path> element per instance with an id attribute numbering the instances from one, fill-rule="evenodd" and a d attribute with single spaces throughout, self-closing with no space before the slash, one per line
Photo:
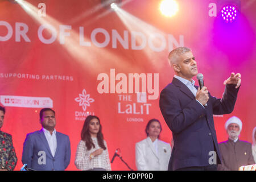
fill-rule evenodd
<path id="1" fill-rule="evenodd" d="M 75 111 L 75 120 L 84 121 L 87 115 L 94 115 L 94 112 L 85 112 L 86 109 L 90 106 L 90 103 L 94 102 L 93 98 L 90 98 L 90 94 L 86 93 L 86 90 L 83 89 L 82 93 L 79 94 L 79 97 L 75 98 L 76 102 L 79 102 L 79 106 L 82 106 L 81 111 Z"/>

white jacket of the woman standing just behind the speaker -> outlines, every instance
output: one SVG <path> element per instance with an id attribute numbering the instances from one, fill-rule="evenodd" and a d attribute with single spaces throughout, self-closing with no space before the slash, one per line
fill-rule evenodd
<path id="1" fill-rule="evenodd" d="M 135 145 L 135 158 L 138 171 L 167 171 L 170 156 L 170 144 L 159 139 L 158 154 L 156 154 L 150 137 Z"/>

